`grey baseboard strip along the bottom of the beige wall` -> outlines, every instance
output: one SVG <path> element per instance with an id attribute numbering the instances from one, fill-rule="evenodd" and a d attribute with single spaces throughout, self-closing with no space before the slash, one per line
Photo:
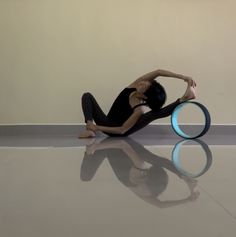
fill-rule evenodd
<path id="1" fill-rule="evenodd" d="M 198 124 L 182 125 L 184 129 L 195 131 Z M 84 124 L 18 124 L 0 125 L 0 136 L 77 136 Z M 135 135 L 175 136 L 170 124 L 150 124 Z M 206 135 L 236 135 L 236 124 L 213 124 Z"/>

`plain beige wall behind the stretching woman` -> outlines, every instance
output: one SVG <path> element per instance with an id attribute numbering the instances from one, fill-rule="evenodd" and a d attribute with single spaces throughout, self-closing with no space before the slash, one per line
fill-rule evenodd
<path id="1" fill-rule="evenodd" d="M 82 123 L 84 91 L 107 112 L 156 68 L 195 78 L 213 123 L 235 123 L 235 9 L 234 0 L 0 0 L 0 124 Z M 168 102 L 185 90 L 160 81 Z"/>

